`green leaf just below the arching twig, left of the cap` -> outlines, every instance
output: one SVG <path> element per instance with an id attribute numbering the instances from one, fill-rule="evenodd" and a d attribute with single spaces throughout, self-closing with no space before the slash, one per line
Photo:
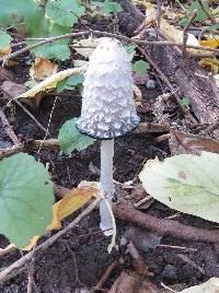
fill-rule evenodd
<path id="1" fill-rule="evenodd" d="M 71 51 L 68 45 L 61 44 L 45 44 L 43 46 L 32 49 L 37 57 L 44 57 L 47 59 L 57 59 L 65 61 L 70 58 Z"/>

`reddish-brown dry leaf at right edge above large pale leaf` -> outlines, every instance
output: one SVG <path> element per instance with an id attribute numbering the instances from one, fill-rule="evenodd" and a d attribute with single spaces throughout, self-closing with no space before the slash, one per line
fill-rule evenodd
<path id="1" fill-rule="evenodd" d="M 199 136 L 186 134 L 184 132 L 170 131 L 171 154 L 200 154 L 200 152 L 219 153 L 219 142 Z"/>

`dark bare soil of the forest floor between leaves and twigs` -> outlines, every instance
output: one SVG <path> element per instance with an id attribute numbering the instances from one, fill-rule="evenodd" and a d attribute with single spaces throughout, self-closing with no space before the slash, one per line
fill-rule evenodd
<path id="1" fill-rule="evenodd" d="M 106 28 L 100 23 L 94 23 L 93 28 L 95 30 L 96 27 L 102 31 Z M 19 66 L 7 69 L 7 71 L 13 73 L 18 83 L 23 83 L 30 69 L 25 61 L 30 57 L 27 55 L 22 56 L 23 62 L 21 57 L 19 58 Z M 66 65 L 64 65 L 65 67 Z M 149 75 L 151 79 L 154 79 L 152 70 L 149 72 Z M 10 77 L 4 77 L 0 80 L 2 83 L 5 80 L 10 80 Z M 159 94 L 162 94 L 162 89 L 165 85 L 161 85 L 162 81 L 160 81 L 160 84 L 157 83 L 153 90 L 139 85 L 145 101 L 145 104 L 137 107 L 141 121 L 153 121 L 153 115 L 149 106 L 154 103 Z M 53 113 L 48 139 L 58 137 L 58 131 L 65 121 L 80 116 L 81 96 L 79 92 L 67 92 L 65 96 L 61 94 L 60 96 L 57 94 L 57 96 L 58 99 Z M 3 108 L 8 99 L 3 98 L 3 93 L 1 97 L 0 106 Z M 147 107 L 143 108 L 142 105 L 148 106 L 149 109 Z M 173 105 L 177 105 L 176 102 Z M 44 126 L 49 120 L 53 106 L 54 96 L 44 97 L 37 112 L 25 105 Z M 174 106 L 172 106 L 172 110 L 175 112 Z M 20 141 L 44 139 L 44 131 L 18 105 L 11 104 L 4 109 L 4 114 Z M 182 116 L 182 113 L 180 115 Z M 129 133 L 124 138 L 116 139 L 114 179 L 120 183 L 120 185 L 116 189 L 115 201 L 119 200 L 123 194 L 125 194 L 124 200 L 129 200 L 132 203 L 147 196 L 140 186 L 138 174 L 148 160 L 157 156 L 160 160 L 164 160 L 171 155 L 168 140 L 158 142 L 159 136 L 160 133 Z M 0 149 L 11 148 L 12 145 L 13 143 L 0 121 Z M 51 150 L 33 151 L 30 154 L 44 164 L 49 163 L 51 178 L 59 186 L 74 188 L 82 180 L 97 181 L 100 178 L 96 171 L 100 168 L 100 142 L 95 142 L 81 152 L 73 151 L 70 156 Z M 96 168 L 92 168 L 91 165 L 94 165 Z M 127 181 L 130 183 L 128 188 Z M 67 226 L 83 209 L 65 219 L 62 226 Z M 210 230 L 215 225 L 200 218 L 180 213 L 153 199 L 148 201 L 147 204 L 139 207 L 139 210 L 159 219 L 172 219 L 188 226 Z M 27 292 L 31 277 L 32 291 L 30 292 L 87 292 L 82 290 L 77 291 L 77 289 L 94 288 L 108 267 L 115 262 L 114 270 L 106 278 L 105 283 L 100 290 L 100 292 L 105 292 L 111 289 L 122 272 L 130 273 L 135 271 L 135 261 L 126 253 L 128 242 L 134 244 L 142 257 L 151 273 L 150 281 L 158 288 L 158 292 L 180 292 L 185 288 L 203 283 L 211 277 L 219 277 L 218 244 L 186 241 L 170 235 L 160 236 L 118 219 L 116 220 L 116 244 L 118 249 L 114 248 L 108 254 L 107 245 L 111 238 L 103 235 L 99 224 L 100 215 L 99 211 L 95 210 L 85 216 L 72 231 L 44 250 L 36 259 L 33 259 L 24 272 L 1 284 L 0 293 Z M 56 232 L 47 233 L 47 235 L 41 238 L 39 243 L 43 243 L 54 234 Z M 0 247 L 4 248 L 8 244 L 7 238 L 1 236 Z M 14 250 L 7 256 L 0 257 L 0 270 L 12 265 L 23 254 L 20 250 Z M 173 291 L 170 291 L 170 289 Z M 128 293 L 129 291 L 126 292 Z"/>

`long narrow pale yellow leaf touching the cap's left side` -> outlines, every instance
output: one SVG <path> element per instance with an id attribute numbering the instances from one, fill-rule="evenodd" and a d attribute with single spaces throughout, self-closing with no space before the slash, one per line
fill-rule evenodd
<path id="1" fill-rule="evenodd" d="M 19 95 L 15 98 L 34 97 L 39 92 L 45 92 L 46 90 L 56 87 L 56 85 L 59 81 L 62 81 L 66 78 L 69 78 L 70 75 L 78 74 L 78 73 L 82 72 L 84 69 L 85 69 L 84 67 L 80 67 L 80 68 L 70 68 L 70 69 L 64 70 L 64 71 L 59 71 L 58 73 L 55 73 L 51 77 L 45 79 L 44 81 L 38 83 L 36 86 L 32 87 L 31 90 Z"/>

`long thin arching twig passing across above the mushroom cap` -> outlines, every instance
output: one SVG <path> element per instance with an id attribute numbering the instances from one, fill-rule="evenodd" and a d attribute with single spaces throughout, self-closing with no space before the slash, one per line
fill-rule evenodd
<path id="1" fill-rule="evenodd" d="M 138 45 L 142 45 L 142 46 L 176 46 L 176 47 L 183 47 L 183 44 L 177 44 L 174 42 L 148 42 L 148 40 L 141 40 L 141 39 L 137 39 L 137 38 L 129 38 L 123 35 L 118 35 L 118 34 L 112 34 L 112 33 L 106 33 L 106 32 L 101 32 L 101 31 L 82 31 L 79 33 L 72 33 L 72 34 L 66 34 L 66 35 L 60 35 L 60 36 L 55 36 L 55 37 L 49 37 L 46 38 L 42 42 L 35 43 L 31 46 L 26 46 L 25 48 L 22 48 L 21 50 L 14 51 L 3 58 L 0 58 L 0 63 L 5 63 L 9 59 L 12 59 L 21 54 L 24 54 L 33 48 L 39 47 L 42 45 L 48 44 L 48 43 L 53 43 L 56 42 L 58 39 L 62 39 L 62 38 L 71 38 L 71 37 L 84 37 L 88 35 L 95 35 L 95 36 L 106 36 L 106 37 L 115 37 L 118 38 L 120 40 L 127 42 L 129 44 L 138 44 Z M 215 51 L 217 55 L 219 55 L 219 49 L 214 49 L 214 48 L 208 48 L 208 47 L 204 47 L 204 46 L 192 46 L 192 45 L 187 45 L 187 48 L 193 48 L 193 49 L 203 49 L 203 50 L 208 50 L 208 51 Z"/>

